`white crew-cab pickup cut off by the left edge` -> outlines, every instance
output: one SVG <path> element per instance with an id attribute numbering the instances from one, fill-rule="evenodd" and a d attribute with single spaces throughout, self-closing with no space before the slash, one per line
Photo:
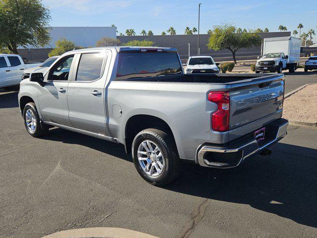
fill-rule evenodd
<path id="1" fill-rule="evenodd" d="M 23 71 L 39 65 L 40 62 L 24 62 L 19 55 L 0 54 L 0 88 L 19 85 Z"/>

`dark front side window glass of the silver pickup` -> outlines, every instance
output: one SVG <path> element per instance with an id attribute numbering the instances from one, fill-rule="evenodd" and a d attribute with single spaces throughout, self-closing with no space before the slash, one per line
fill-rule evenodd
<path id="1" fill-rule="evenodd" d="M 59 62 L 52 68 L 50 80 L 68 80 L 73 59 L 74 55 L 70 55 L 59 60 Z"/>

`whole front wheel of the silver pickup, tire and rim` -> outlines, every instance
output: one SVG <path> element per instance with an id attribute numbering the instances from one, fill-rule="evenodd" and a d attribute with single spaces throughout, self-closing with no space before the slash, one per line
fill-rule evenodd
<path id="1" fill-rule="evenodd" d="M 41 123 L 40 116 L 34 103 L 28 103 L 25 105 L 23 118 L 25 128 L 30 135 L 40 137 L 48 132 L 49 127 Z"/>

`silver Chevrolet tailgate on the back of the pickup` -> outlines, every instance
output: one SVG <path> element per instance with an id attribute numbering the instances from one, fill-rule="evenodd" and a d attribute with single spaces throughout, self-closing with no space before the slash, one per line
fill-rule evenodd
<path id="1" fill-rule="evenodd" d="M 231 85 L 229 129 L 245 127 L 244 133 L 260 128 L 281 116 L 284 99 L 284 75 L 274 74 Z M 255 124 L 259 122 L 258 125 Z M 248 124 L 252 123 L 250 131 Z M 229 132 L 230 134 L 230 132 Z"/>

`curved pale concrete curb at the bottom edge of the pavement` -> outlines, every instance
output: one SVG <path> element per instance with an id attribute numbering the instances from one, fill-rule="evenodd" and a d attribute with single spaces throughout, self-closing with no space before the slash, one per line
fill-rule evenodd
<path id="1" fill-rule="evenodd" d="M 124 228 L 96 227 L 66 230 L 42 238 L 158 238 Z"/>

